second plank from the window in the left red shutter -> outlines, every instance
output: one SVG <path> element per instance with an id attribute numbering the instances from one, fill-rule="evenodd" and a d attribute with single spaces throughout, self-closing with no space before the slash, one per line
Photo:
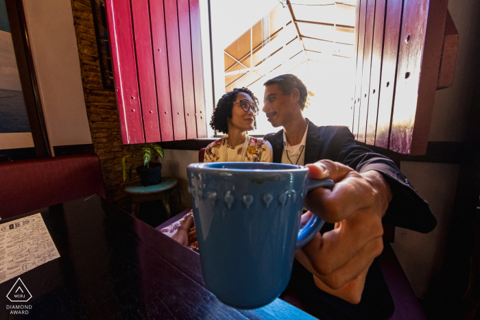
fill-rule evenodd
<path id="1" fill-rule="evenodd" d="M 195 93 L 193 91 L 189 0 L 178 0 L 178 27 L 180 30 L 180 57 L 182 58 L 183 103 L 187 139 L 195 139 L 197 138 L 197 121 L 195 121 Z"/>

